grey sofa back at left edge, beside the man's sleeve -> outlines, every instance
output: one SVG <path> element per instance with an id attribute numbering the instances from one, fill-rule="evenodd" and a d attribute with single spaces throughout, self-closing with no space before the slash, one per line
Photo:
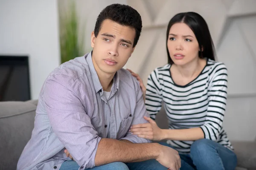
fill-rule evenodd
<path id="1" fill-rule="evenodd" d="M 15 170 L 34 128 L 37 100 L 0 102 L 0 169 Z"/>

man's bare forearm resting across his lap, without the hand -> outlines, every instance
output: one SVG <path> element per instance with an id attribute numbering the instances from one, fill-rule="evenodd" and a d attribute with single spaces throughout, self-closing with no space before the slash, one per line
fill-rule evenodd
<path id="1" fill-rule="evenodd" d="M 160 144 L 140 143 L 134 144 L 116 139 L 102 138 L 99 142 L 95 166 L 111 162 L 137 162 L 156 159 L 160 153 Z"/>

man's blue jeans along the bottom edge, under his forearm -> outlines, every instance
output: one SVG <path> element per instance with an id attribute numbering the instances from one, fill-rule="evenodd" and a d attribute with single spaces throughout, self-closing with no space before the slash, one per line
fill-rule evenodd
<path id="1" fill-rule="evenodd" d="M 64 161 L 60 170 L 78 170 L 79 165 L 75 161 Z M 155 159 L 150 159 L 142 162 L 122 163 L 112 162 L 110 164 L 101 165 L 98 167 L 89 168 L 88 170 L 167 170 Z"/>

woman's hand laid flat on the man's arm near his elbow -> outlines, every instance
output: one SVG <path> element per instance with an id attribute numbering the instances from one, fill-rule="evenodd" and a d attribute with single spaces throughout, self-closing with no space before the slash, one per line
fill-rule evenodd
<path id="1" fill-rule="evenodd" d="M 144 116 L 144 119 L 149 123 L 143 123 L 138 125 L 131 126 L 130 132 L 132 134 L 139 136 L 140 138 L 150 139 L 154 141 L 160 141 L 164 139 L 163 130 L 157 126 L 157 123 L 149 118 Z"/>

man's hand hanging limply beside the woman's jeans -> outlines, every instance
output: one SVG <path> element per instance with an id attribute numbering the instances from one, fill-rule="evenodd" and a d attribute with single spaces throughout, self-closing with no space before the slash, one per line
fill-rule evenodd
<path id="1" fill-rule="evenodd" d="M 168 170 L 179 170 L 181 162 L 177 150 L 163 145 L 160 147 L 160 154 L 156 160 L 163 166 L 168 167 Z"/>

